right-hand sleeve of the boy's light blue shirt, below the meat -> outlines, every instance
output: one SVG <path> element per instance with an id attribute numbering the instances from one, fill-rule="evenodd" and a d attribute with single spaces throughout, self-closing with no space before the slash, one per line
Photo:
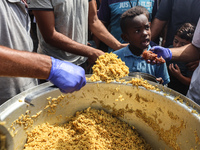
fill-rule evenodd
<path id="1" fill-rule="evenodd" d="M 165 84 L 168 84 L 170 82 L 170 77 L 169 77 L 169 74 L 168 74 L 168 70 L 167 70 L 167 65 L 166 63 L 160 65 L 160 66 L 157 66 L 157 70 L 156 70 L 156 77 L 161 77 L 164 81 L 164 85 Z"/>

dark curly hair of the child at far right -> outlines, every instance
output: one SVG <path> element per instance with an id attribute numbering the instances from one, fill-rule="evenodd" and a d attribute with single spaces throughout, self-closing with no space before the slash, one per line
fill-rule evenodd
<path id="1" fill-rule="evenodd" d="M 176 32 L 175 35 L 181 39 L 192 42 L 192 38 L 195 31 L 195 25 L 191 23 L 184 23 Z"/>

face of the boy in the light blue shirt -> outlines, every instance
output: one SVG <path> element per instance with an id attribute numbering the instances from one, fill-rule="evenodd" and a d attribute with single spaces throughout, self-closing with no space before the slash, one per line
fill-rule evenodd
<path id="1" fill-rule="evenodd" d="M 148 18 L 141 14 L 128 22 L 127 33 L 122 38 L 130 43 L 130 47 L 144 50 L 148 48 L 151 41 L 150 23 Z"/>

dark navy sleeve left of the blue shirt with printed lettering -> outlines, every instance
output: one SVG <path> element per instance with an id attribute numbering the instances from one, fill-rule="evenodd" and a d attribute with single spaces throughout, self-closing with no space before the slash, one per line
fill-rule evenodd
<path id="1" fill-rule="evenodd" d="M 98 18 L 105 23 L 110 22 L 110 8 L 108 5 L 108 0 L 101 1 L 101 5 L 98 10 Z"/>

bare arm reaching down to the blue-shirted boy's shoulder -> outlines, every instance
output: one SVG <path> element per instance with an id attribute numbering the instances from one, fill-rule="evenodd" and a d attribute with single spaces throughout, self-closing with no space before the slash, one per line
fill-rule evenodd
<path id="1" fill-rule="evenodd" d="M 98 19 L 96 0 L 91 0 L 89 3 L 88 22 L 91 32 L 112 49 L 117 50 L 127 46 L 127 44 L 121 44 L 117 39 L 115 39 L 106 29 L 104 24 Z"/>

